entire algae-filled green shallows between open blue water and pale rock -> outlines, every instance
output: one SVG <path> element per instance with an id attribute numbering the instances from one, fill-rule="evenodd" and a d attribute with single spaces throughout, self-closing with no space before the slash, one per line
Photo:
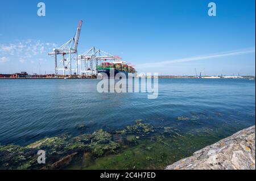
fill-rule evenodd
<path id="1" fill-rule="evenodd" d="M 0 146 L 0 169 L 164 169 L 216 140 L 210 129 L 181 135 L 175 128 L 137 120 L 112 133 L 100 129 L 43 138 L 27 146 Z M 40 149 L 46 150 L 46 165 L 37 163 Z"/>

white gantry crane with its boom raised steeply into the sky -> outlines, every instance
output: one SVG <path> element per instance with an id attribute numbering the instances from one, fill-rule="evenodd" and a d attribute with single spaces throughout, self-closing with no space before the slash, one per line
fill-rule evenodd
<path id="1" fill-rule="evenodd" d="M 53 49 L 53 52 L 49 52 L 48 54 L 51 56 L 55 56 L 55 75 L 57 76 L 58 70 L 63 70 L 63 75 L 65 76 L 65 71 L 69 71 L 69 75 L 72 76 L 72 70 L 76 70 L 76 75 L 78 75 L 78 54 L 77 54 L 77 45 L 79 43 L 79 37 L 82 27 L 82 20 L 79 21 L 79 25 L 76 30 L 75 37 L 72 37 L 67 43 L 61 45 L 59 48 Z M 57 55 L 62 55 L 62 60 L 59 65 L 57 65 Z M 69 54 L 68 61 L 65 56 Z M 72 56 L 73 54 L 73 56 Z M 76 69 L 72 69 L 72 59 L 76 56 Z M 67 62 L 67 63 L 66 63 Z M 60 66 L 63 68 L 59 68 Z M 69 66 L 69 68 L 68 68 Z"/>

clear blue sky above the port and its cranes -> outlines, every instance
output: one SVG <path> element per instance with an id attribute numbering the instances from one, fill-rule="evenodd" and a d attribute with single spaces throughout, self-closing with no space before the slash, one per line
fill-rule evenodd
<path id="1" fill-rule="evenodd" d="M 94 46 L 139 73 L 255 75 L 254 0 L 1 1 L 0 73 L 54 73 L 48 52 L 75 35 L 79 20 L 79 54 Z"/>

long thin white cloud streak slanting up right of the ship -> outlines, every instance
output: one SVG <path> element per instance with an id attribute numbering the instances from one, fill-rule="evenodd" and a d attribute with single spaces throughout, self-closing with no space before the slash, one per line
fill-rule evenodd
<path id="1" fill-rule="evenodd" d="M 242 50 L 233 50 L 229 52 L 222 52 L 222 53 L 215 53 L 215 54 L 208 54 L 208 55 L 202 55 L 202 56 L 195 56 L 195 57 L 187 57 L 187 58 L 180 58 L 175 60 L 169 60 L 169 61 L 156 61 L 148 64 L 139 64 L 137 67 L 141 68 L 152 68 L 152 67 L 162 67 L 167 66 L 168 64 L 175 64 L 175 63 L 181 63 L 181 62 L 190 62 L 190 61 L 197 61 L 197 60 L 208 60 L 208 59 L 214 59 L 214 58 L 221 58 L 221 57 L 229 57 L 229 56 L 237 56 L 241 54 L 249 54 L 249 53 L 255 53 L 255 47 L 250 49 L 242 49 Z"/>

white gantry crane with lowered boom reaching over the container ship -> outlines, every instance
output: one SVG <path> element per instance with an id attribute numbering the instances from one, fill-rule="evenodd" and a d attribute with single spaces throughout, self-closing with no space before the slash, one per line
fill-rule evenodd
<path id="1" fill-rule="evenodd" d="M 95 47 L 90 48 L 86 52 L 80 54 L 78 56 L 80 60 L 80 75 L 97 75 L 97 66 L 98 63 L 101 63 L 102 61 L 109 61 L 109 60 L 122 60 L 119 56 L 113 56 L 110 53 L 104 52 L 100 49 L 97 49 Z M 84 68 L 82 68 L 82 61 L 84 61 Z M 90 64 L 90 66 L 88 65 Z"/>

